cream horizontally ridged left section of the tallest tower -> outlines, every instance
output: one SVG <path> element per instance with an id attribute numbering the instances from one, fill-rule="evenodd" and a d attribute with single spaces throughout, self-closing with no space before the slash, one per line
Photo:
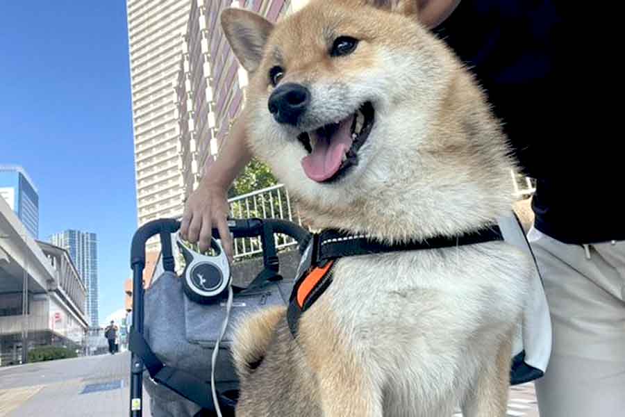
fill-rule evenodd
<path id="1" fill-rule="evenodd" d="M 192 0 L 128 0 L 138 223 L 183 210 L 178 77 Z"/>

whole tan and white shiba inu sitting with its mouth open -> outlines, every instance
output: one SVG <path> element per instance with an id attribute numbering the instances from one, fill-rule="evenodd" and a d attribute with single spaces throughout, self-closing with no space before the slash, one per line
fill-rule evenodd
<path id="1" fill-rule="evenodd" d="M 315 228 L 384 243 L 508 215 L 509 154 L 485 95 L 417 1 L 313 0 L 271 24 L 228 9 L 251 74 L 249 147 Z M 501 241 L 339 259 L 299 320 L 238 327 L 238 416 L 505 416 L 531 259 Z"/>

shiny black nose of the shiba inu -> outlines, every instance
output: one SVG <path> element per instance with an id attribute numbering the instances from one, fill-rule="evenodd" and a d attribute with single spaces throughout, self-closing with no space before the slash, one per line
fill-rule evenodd
<path id="1" fill-rule="evenodd" d="M 287 83 L 269 96 L 269 111 L 278 123 L 295 126 L 310 103 L 310 91 L 301 84 Z"/>

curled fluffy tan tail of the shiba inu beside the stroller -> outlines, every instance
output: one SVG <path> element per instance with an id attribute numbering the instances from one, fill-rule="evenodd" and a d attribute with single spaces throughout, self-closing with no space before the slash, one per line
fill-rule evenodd
<path id="1" fill-rule="evenodd" d="M 243 320 L 233 339 L 233 359 L 240 378 L 254 373 L 263 363 L 278 321 L 286 316 L 284 307 L 265 309 Z"/>

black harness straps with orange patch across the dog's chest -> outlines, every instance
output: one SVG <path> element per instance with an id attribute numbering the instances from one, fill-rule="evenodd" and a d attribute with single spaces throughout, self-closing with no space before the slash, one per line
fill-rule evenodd
<path id="1" fill-rule="evenodd" d="M 386 245 L 367 238 L 344 234 L 334 229 L 313 234 L 301 256 L 297 270 L 297 282 L 291 293 L 287 319 L 291 334 L 297 334 L 297 326 L 301 314 L 312 306 L 332 283 L 332 269 L 335 261 L 345 256 L 381 254 L 411 250 L 431 250 L 460 245 L 503 240 L 499 227 L 490 227 L 463 234 L 462 236 L 435 236 L 422 241 Z"/>

